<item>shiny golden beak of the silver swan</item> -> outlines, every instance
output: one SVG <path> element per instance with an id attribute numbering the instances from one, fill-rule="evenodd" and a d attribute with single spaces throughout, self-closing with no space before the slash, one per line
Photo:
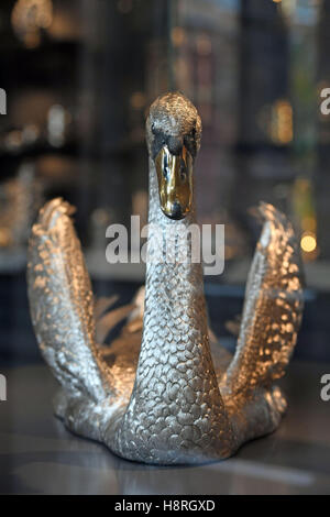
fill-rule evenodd
<path id="1" fill-rule="evenodd" d="M 178 155 L 167 146 L 155 158 L 160 202 L 169 219 L 184 219 L 193 204 L 193 157 L 185 146 Z"/>

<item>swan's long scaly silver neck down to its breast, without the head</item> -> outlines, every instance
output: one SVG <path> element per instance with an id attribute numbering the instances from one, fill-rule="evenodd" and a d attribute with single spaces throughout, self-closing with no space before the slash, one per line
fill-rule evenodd
<path id="1" fill-rule="evenodd" d="M 138 461 L 185 463 L 188 455 L 219 457 L 219 437 L 229 429 L 212 364 L 200 263 L 175 258 L 179 231 L 195 222 L 163 215 L 150 161 L 148 253 L 154 238 L 169 235 L 169 256 L 146 261 L 141 351 L 131 399 L 118 431 L 118 452 Z M 178 234 L 176 234 L 178 232 Z M 190 248 L 190 246 L 189 246 Z M 230 432 L 228 431 L 228 435 Z M 132 451 L 131 443 L 134 443 Z M 228 455 L 228 443 L 221 446 Z"/>

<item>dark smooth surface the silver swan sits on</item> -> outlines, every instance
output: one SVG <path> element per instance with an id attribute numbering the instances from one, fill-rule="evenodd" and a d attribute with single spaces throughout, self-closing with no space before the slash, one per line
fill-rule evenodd
<path id="1" fill-rule="evenodd" d="M 289 410 L 280 428 L 234 458 L 194 468 L 131 463 L 66 431 L 52 415 L 56 385 L 44 365 L 1 373 L 2 494 L 330 494 L 330 402 L 320 398 L 330 363 L 295 361 L 283 382 Z"/>

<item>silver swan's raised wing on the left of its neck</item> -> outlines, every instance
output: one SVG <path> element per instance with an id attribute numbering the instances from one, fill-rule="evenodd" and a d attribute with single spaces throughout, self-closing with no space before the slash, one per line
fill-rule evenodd
<path id="1" fill-rule="evenodd" d="M 42 354 L 64 389 L 100 400 L 113 394 L 113 382 L 96 344 L 95 300 L 73 212 L 53 199 L 32 228 L 30 310 Z"/>

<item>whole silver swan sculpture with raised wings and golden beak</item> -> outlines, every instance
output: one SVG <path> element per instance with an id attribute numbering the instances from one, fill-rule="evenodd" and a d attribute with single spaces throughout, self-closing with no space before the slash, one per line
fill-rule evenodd
<path id="1" fill-rule="evenodd" d="M 196 222 L 193 168 L 200 135 L 198 112 L 182 94 L 151 106 L 148 256 L 160 232 L 173 240 L 173 251 L 179 231 Z M 62 199 L 44 206 L 28 264 L 32 322 L 61 384 L 55 414 L 65 426 L 119 457 L 155 464 L 224 459 L 274 431 L 286 409 L 276 380 L 302 314 L 299 252 L 286 217 L 260 206 L 264 226 L 231 356 L 209 332 L 202 266 L 189 260 L 188 245 L 187 261 L 173 252 L 147 262 L 145 296 L 107 312 L 113 300 L 95 302 L 73 211 Z M 130 314 L 120 337 L 105 346 L 109 328 Z"/>

